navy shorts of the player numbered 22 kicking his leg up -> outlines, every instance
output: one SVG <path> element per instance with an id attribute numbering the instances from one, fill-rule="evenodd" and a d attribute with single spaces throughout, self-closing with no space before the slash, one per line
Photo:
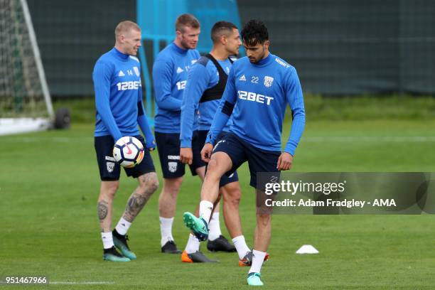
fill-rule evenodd
<path id="1" fill-rule="evenodd" d="M 230 176 L 239 168 L 245 161 L 248 162 L 249 173 L 251 174 L 251 181 L 249 185 L 264 191 L 265 183 L 269 180 L 279 180 L 279 171 L 276 169 L 281 151 L 268 151 L 259 149 L 239 136 L 233 133 L 227 133 L 216 141 L 213 153 L 225 152 L 230 156 L 232 161 L 232 168 L 225 173 Z M 257 180 L 257 173 L 267 173 L 261 180 Z"/>

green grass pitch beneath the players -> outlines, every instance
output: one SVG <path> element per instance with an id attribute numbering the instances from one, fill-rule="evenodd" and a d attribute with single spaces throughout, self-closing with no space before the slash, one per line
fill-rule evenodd
<path id="1" fill-rule="evenodd" d="M 434 128 L 433 120 L 308 119 L 292 170 L 435 171 Z M 287 122 L 284 139 L 288 131 Z M 129 231 L 138 259 L 102 261 L 92 133 L 93 124 L 73 124 L 68 131 L 0 137 L 0 276 L 44 275 L 50 282 L 71 283 L 35 289 L 247 289 L 248 269 L 237 266 L 237 254 L 207 253 L 219 264 L 183 264 L 178 255 L 160 253 L 160 189 Z M 156 152 L 153 158 L 161 178 Z M 136 186 L 122 174 L 113 223 Z M 247 166 L 239 175 L 242 225 L 252 245 L 254 194 Z M 173 227 L 181 248 L 188 237 L 181 215 L 194 210 L 199 190 L 198 178 L 186 176 Z M 271 259 L 262 268 L 266 289 L 434 289 L 432 215 L 275 215 L 272 220 Z M 229 237 L 222 217 L 221 225 Z M 320 253 L 295 254 L 305 244 Z M 202 249 L 207 252 L 205 245 Z M 109 284 L 77 284 L 83 282 Z"/>

